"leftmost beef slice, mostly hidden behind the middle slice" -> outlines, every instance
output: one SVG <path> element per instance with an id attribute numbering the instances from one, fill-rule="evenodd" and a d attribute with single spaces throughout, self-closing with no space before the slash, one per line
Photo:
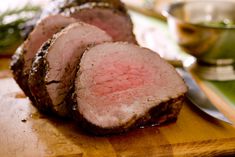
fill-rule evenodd
<path id="1" fill-rule="evenodd" d="M 35 54 L 41 45 L 51 38 L 54 33 L 76 21 L 77 20 L 74 18 L 62 15 L 51 15 L 42 19 L 30 33 L 28 39 L 13 56 L 11 69 L 13 71 L 14 78 L 21 89 L 32 101 L 33 97 L 28 88 L 28 76 Z"/>

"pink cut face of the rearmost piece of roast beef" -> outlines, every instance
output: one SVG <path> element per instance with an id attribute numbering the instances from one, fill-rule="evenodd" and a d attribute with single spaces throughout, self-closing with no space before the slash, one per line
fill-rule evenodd
<path id="1" fill-rule="evenodd" d="M 123 14 L 114 13 L 111 9 L 84 9 L 76 12 L 73 17 L 95 25 L 105 30 L 114 41 L 133 42 L 132 26 L 128 17 Z"/>

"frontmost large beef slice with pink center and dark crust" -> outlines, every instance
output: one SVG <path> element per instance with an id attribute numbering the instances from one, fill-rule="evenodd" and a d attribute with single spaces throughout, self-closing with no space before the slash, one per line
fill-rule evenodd
<path id="1" fill-rule="evenodd" d="M 103 43 L 81 59 L 74 117 L 94 134 L 120 133 L 175 119 L 187 87 L 158 54 L 128 43 Z"/>

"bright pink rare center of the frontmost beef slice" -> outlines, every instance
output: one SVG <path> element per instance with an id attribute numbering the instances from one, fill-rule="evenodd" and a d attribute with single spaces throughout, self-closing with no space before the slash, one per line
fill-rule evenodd
<path id="1" fill-rule="evenodd" d="M 97 96 L 105 96 L 143 86 L 149 77 L 150 73 L 143 65 L 104 61 L 95 70 L 91 91 Z"/>

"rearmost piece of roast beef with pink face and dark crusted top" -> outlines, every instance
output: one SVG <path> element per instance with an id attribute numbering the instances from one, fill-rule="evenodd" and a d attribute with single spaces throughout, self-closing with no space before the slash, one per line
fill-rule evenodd
<path id="1" fill-rule="evenodd" d="M 105 30 L 114 41 L 137 43 L 128 14 L 109 3 L 86 3 L 69 11 L 71 17 Z"/>

